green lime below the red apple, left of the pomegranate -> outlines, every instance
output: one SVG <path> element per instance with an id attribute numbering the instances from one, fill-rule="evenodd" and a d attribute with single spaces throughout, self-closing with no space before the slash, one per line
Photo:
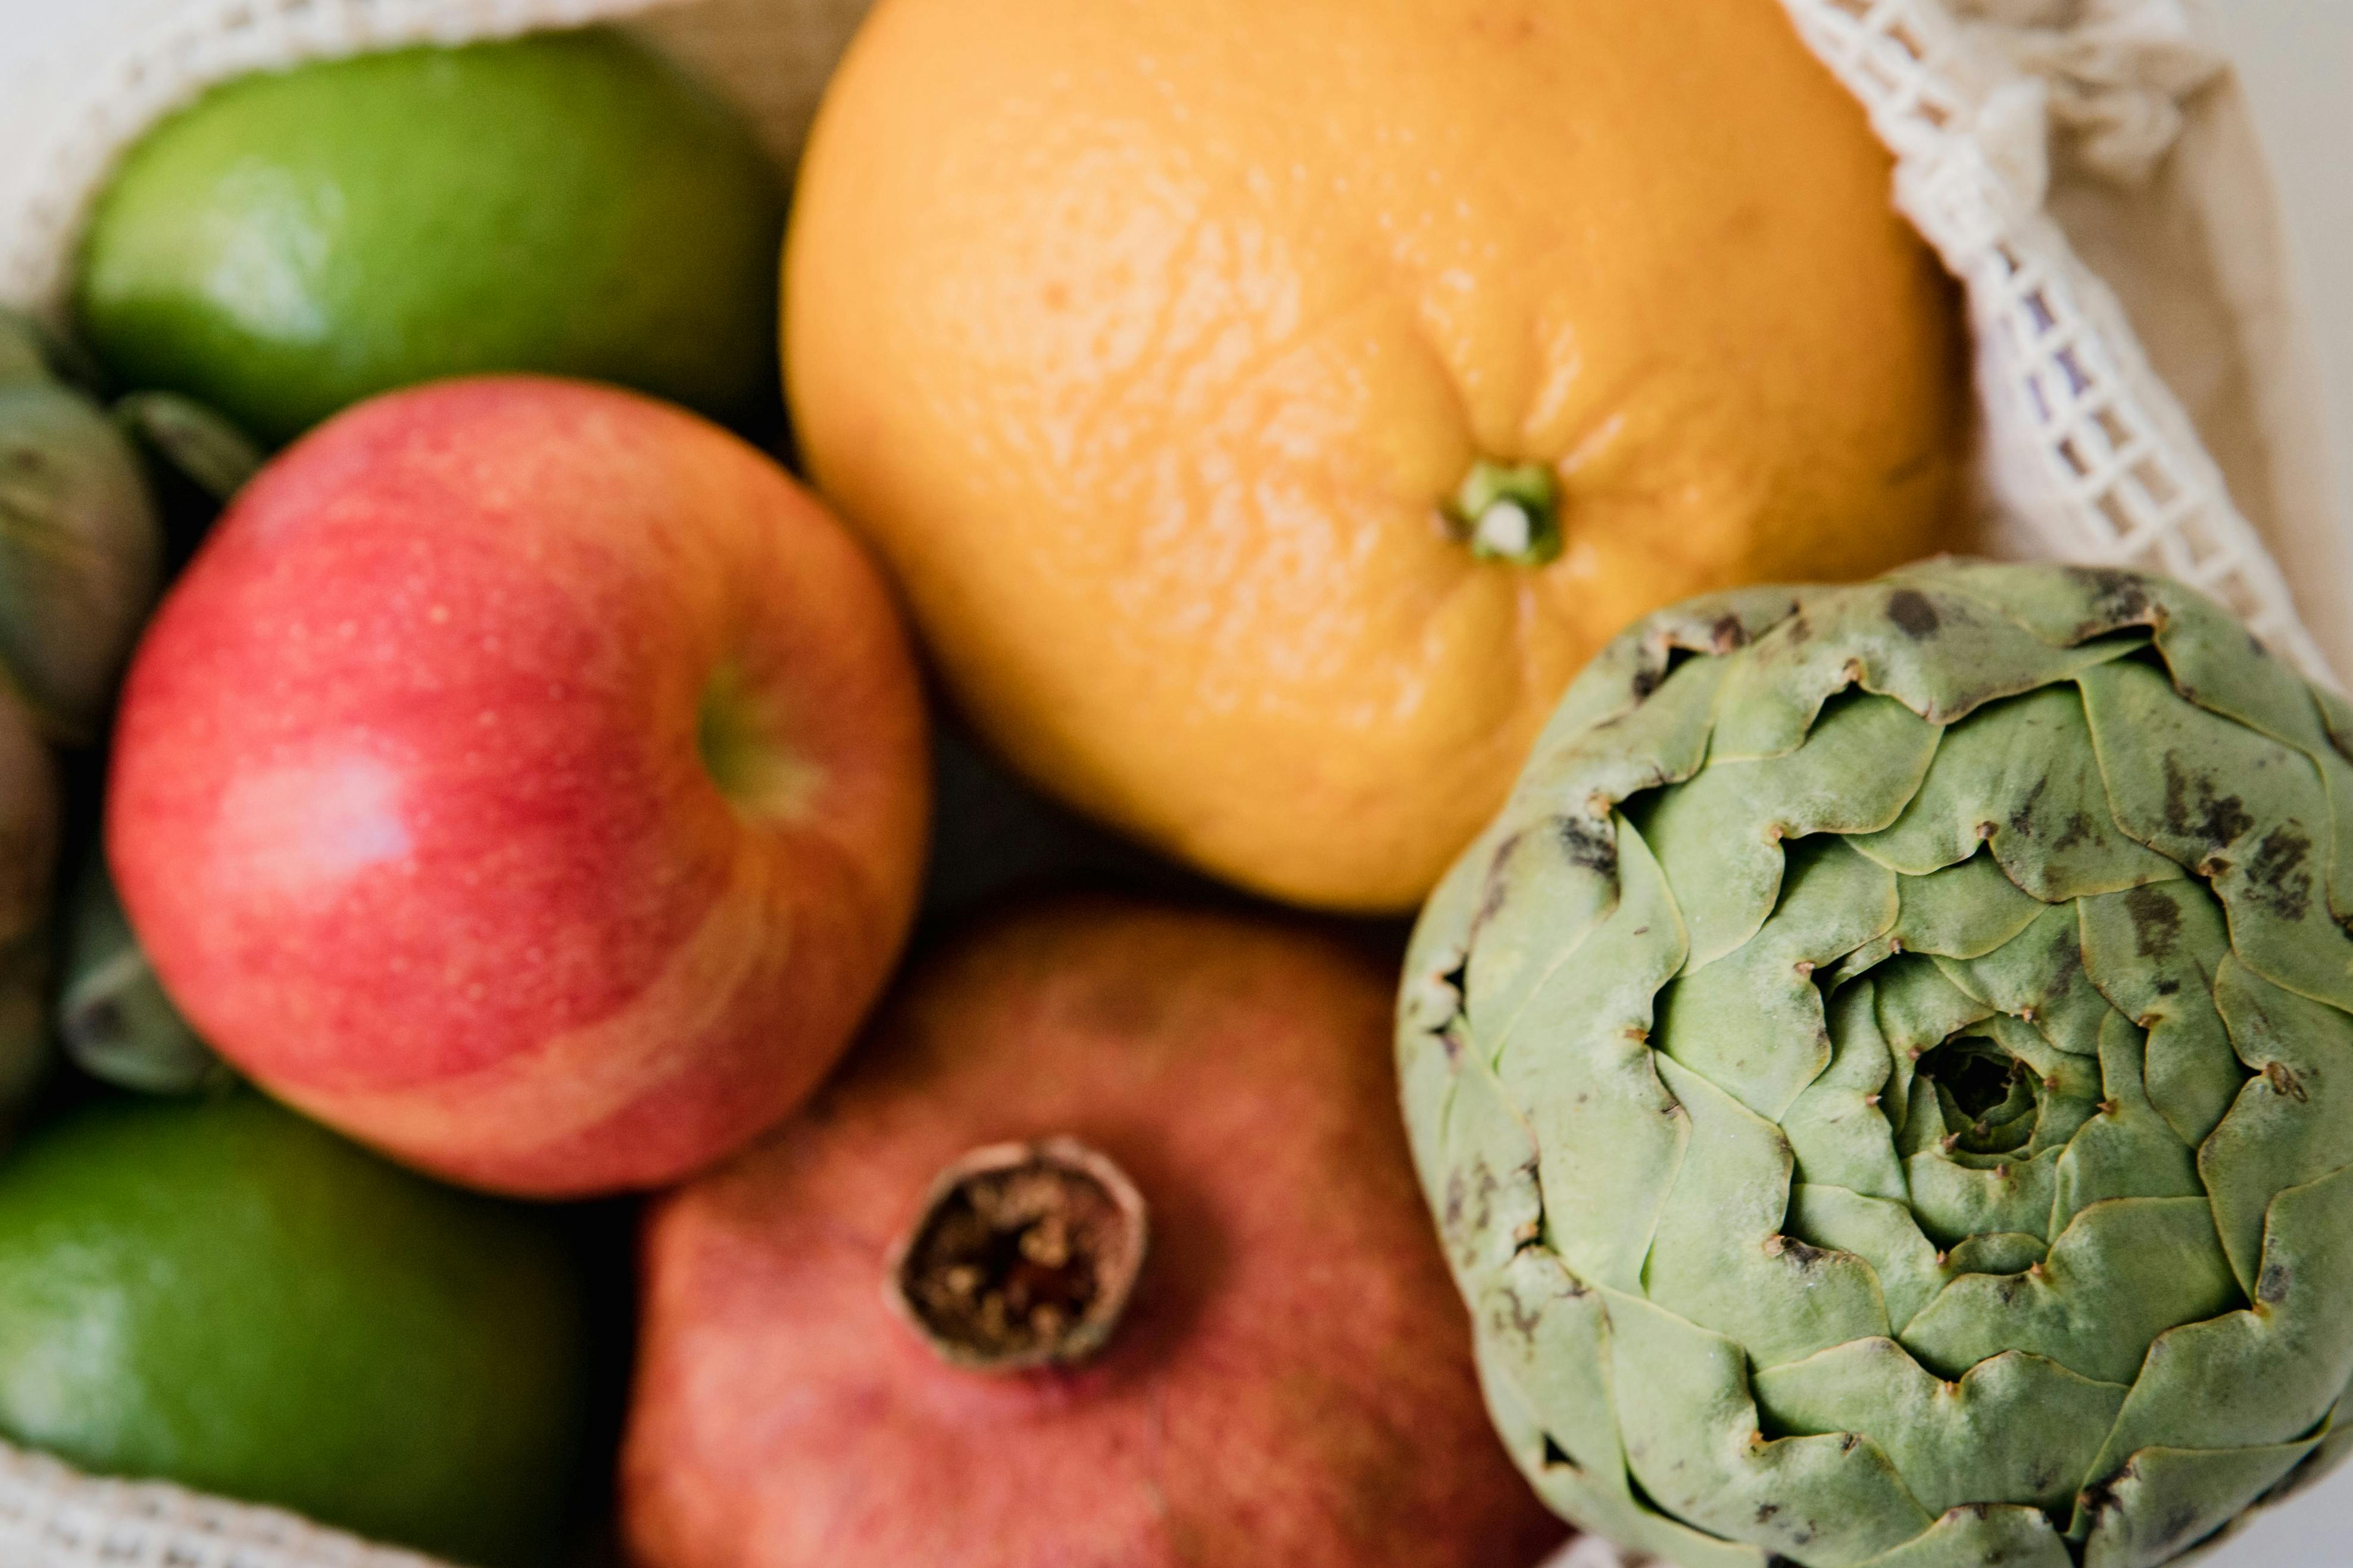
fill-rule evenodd
<path id="1" fill-rule="evenodd" d="M 252 1090 L 101 1099 L 0 1161 L 0 1434 L 82 1469 L 546 1563 L 581 1342 L 544 1215 Z"/>

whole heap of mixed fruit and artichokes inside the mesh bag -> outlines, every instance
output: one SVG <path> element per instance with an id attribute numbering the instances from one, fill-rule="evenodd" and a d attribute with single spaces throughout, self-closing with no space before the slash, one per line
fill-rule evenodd
<path id="1" fill-rule="evenodd" d="M 160 122 L 0 318 L 0 1436 L 475 1568 L 2311 1481 L 2353 709 L 1958 558 L 1887 181 L 1772 0 L 882 0 L 791 184 L 609 31 Z"/>

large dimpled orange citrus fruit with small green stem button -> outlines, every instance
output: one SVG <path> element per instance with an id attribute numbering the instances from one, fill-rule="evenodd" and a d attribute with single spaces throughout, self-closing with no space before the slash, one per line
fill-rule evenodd
<path id="1" fill-rule="evenodd" d="M 995 746 L 1334 909 L 1628 619 L 1934 549 L 1962 461 L 1951 287 L 1774 0 L 882 0 L 786 356 Z"/>

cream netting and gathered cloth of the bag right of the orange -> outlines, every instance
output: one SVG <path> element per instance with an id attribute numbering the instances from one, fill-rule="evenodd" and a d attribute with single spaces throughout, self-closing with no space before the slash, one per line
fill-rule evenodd
<path id="1" fill-rule="evenodd" d="M 2052 31 L 1972 26 L 1941 0 L 1784 2 L 1894 148 L 1897 205 L 1969 290 L 1988 480 L 2009 553 L 2169 572 L 2327 678 L 2280 567 L 2231 504 L 2181 400 L 2042 210 L 2054 101 L 2089 127 L 2094 167 L 2153 167 L 2179 113 L 2151 104 L 2219 68 L 2193 16 L 2179 0 L 2108 0 L 2085 5 L 2080 31 Z M 2019 71 L 2021 59 L 2049 66 L 2059 85 Z"/>

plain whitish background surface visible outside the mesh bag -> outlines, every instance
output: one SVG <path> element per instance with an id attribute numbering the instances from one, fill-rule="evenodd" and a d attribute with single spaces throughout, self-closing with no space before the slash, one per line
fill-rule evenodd
<path id="1" fill-rule="evenodd" d="M 0 122 L 42 59 L 139 0 L 0 0 Z M 2353 527 L 2353 0 L 2214 0 L 2271 148 Z M 0 148 L 5 155 L 5 148 Z M 2207 1568 L 2353 1568 L 2353 1464 L 2261 1516 Z"/>

